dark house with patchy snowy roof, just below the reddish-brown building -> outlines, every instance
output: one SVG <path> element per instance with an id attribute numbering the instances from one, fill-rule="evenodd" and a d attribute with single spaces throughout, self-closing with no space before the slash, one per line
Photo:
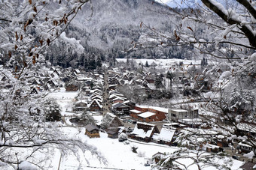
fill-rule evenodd
<path id="1" fill-rule="evenodd" d="M 143 142 L 151 142 L 155 133 L 160 133 L 157 125 L 138 122 L 129 137 Z"/>

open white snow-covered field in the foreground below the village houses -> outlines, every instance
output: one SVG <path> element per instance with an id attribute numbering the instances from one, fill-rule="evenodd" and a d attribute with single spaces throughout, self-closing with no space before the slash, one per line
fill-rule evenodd
<path id="1" fill-rule="evenodd" d="M 129 145 L 118 142 L 118 139 L 108 138 L 106 133 L 100 133 L 100 138 L 90 139 L 84 135 L 84 128 L 75 127 L 62 127 L 64 133 L 69 136 L 78 137 L 90 145 L 93 145 L 107 160 L 107 164 L 100 163 L 96 157 L 92 157 L 89 153 L 86 153 L 85 157 L 79 155 L 81 160 L 75 160 L 74 155 L 69 155 L 62 159 L 60 163 L 60 169 L 87 169 L 88 166 L 96 168 L 109 168 L 109 169 L 150 169 L 148 166 L 144 166 L 148 160 L 151 160 L 152 155 L 157 152 L 169 152 L 172 153 L 176 148 L 156 145 L 154 143 L 140 143 L 130 142 Z M 79 133 L 79 131 L 81 131 Z M 136 145 L 138 147 L 138 154 L 133 153 L 131 146 Z M 79 153 L 83 154 L 83 153 Z M 87 161 L 85 160 L 87 159 Z"/>

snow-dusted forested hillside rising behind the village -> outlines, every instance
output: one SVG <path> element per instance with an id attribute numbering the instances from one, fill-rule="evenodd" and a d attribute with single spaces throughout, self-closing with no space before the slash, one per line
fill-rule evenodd
<path id="1" fill-rule="evenodd" d="M 172 10 L 163 4 L 152 0 L 104 0 L 92 1 L 92 5 L 93 10 L 90 10 L 89 5 L 85 6 L 66 31 L 68 37 L 80 40 L 84 47 L 83 54 L 78 55 L 78 52 L 71 50 L 65 43 L 59 43 L 58 46 L 48 49 L 46 56 L 52 64 L 62 67 L 81 66 L 91 70 L 92 68 L 87 67 L 87 61 L 94 62 L 93 58 L 114 64 L 114 58 L 194 57 L 193 45 L 160 46 L 126 52 L 131 43 L 150 42 L 157 36 L 150 29 L 142 28 L 142 22 L 166 35 L 171 35 L 181 25 L 181 16 L 172 13 Z M 91 13 L 93 16 L 90 16 Z M 190 22 L 184 24 L 186 25 L 190 25 Z M 212 34 L 203 33 L 203 29 L 206 29 L 206 26 L 198 24 L 194 32 L 211 39 Z"/>

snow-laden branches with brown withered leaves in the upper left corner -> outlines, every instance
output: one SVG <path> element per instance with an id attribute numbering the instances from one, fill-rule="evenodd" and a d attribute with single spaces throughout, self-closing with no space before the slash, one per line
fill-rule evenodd
<path id="1" fill-rule="evenodd" d="M 87 2 L 88 0 L 61 3 L 44 0 L 3 2 L 0 34 L 4 36 L 0 36 L 0 49 L 9 52 L 10 58 L 15 58 L 18 54 L 24 55 L 25 58 L 18 61 L 23 67 L 38 62 L 36 56 L 43 53 L 61 34 L 65 43 L 78 52 L 83 51 L 79 41 L 66 37 L 65 31 Z"/>

